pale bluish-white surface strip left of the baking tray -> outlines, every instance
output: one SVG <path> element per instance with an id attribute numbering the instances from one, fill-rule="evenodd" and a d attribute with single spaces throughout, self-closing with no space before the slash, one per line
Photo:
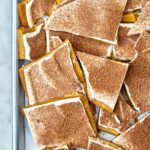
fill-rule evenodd
<path id="1" fill-rule="evenodd" d="M 12 149 L 11 0 L 0 0 L 0 150 Z"/>

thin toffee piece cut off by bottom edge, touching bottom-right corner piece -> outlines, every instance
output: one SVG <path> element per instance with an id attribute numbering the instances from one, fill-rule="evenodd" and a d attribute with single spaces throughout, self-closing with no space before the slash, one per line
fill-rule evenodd
<path id="1" fill-rule="evenodd" d="M 123 149 L 109 141 L 90 137 L 87 150 L 123 150 Z"/>

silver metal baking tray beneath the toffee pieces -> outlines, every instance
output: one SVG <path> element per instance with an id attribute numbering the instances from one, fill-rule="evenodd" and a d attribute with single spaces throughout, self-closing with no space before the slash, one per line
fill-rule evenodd
<path id="1" fill-rule="evenodd" d="M 37 150 L 32 139 L 29 126 L 22 114 L 26 105 L 26 97 L 18 76 L 18 68 L 27 61 L 18 60 L 17 28 L 19 19 L 17 4 L 21 0 L 12 0 L 12 99 L 13 99 L 13 150 Z M 100 136 L 112 140 L 113 135 L 100 132 Z"/>

